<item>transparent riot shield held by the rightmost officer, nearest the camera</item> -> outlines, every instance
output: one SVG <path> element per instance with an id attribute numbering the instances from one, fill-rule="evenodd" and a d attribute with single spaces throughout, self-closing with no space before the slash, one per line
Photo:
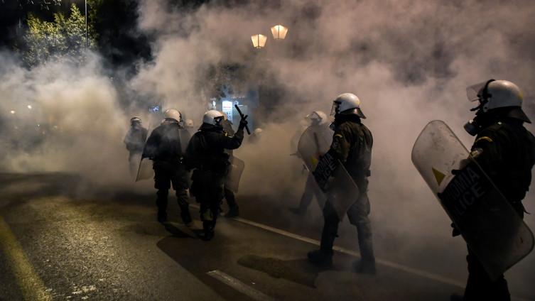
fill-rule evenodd
<path id="1" fill-rule="evenodd" d="M 534 247 L 528 226 L 443 121 L 416 139 L 412 161 L 491 278 Z"/>

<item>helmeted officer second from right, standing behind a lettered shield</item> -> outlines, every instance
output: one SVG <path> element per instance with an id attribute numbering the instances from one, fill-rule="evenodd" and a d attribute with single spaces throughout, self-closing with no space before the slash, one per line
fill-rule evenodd
<path id="1" fill-rule="evenodd" d="M 375 273 L 375 257 L 372 247 L 372 226 L 369 221 L 369 199 L 367 195 L 369 166 L 372 162 L 373 138 L 369 129 L 362 124 L 366 116 L 360 109 L 360 99 L 351 93 L 340 94 L 333 102 L 335 114 L 333 143 L 328 153 L 320 158 L 318 166 L 325 160 L 340 160 L 360 190 L 360 195 L 347 210 L 351 224 L 357 226 L 361 260 L 354 263 L 359 273 Z M 314 177 L 318 177 L 316 168 Z M 323 187 L 322 187 L 323 189 Z M 333 263 L 333 244 L 337 236 L 338 217 L 330 200 L 323 207 L 325 224 L 321 234 L 320 250 L 308 253 L 308 260 L 320 266 Z"/>

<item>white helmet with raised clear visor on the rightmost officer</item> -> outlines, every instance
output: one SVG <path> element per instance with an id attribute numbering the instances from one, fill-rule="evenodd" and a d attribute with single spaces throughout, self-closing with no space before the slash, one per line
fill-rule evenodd
<path id="1" fill-rule="evenodd" d="M 480 84 L 474 84 L 466 89 L 466 94 L 470 102 L 476 100 L 480 102 L 472 111 L 487 111 L 506 107 L 517 107 L 512 109 L 508 116 L 531 123 L 528 116 L 522 111 L 522 92 L 520 88 L 507 80 L 488 80 Z"/>

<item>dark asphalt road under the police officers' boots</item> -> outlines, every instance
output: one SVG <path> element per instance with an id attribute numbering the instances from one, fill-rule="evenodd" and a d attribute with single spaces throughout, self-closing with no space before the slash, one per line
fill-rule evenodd
<path id="1" fill-rule="evenodd" d="M 242 218 L 220 218 L 206 242 L 196 209 L 194 225 L 183 226 L 173 197 L 171 222 L 159 224 L 152 190 L 99 191 L 80 182 L 59 173 L 0 174 L 0 300 L 449 300 L 463 292 L 465 272 L 452 272 L 462 262 L 452 268 L 432 249 L 399 258 L 395 242 L 380 244 L 389 247 L 377 250 L 376 276 L 354 273 L 356 233 L 347 221 L 335 266 L 311 266 L 306 252 L 317 248 L 319 210 L 288 213 L 296 196 L 239 195 Z M 533 288 L 509 283 L 535 300 Z"/>

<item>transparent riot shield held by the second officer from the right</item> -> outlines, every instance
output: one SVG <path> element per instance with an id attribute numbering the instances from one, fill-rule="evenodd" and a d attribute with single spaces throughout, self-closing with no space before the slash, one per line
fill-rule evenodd
<path id="1" fill-rule="evenodd" d="M 320 155 L 325 155 L 330 148 L 333 131 L 325 128 L 327 127 L 309 126 L 299 139 L 297 151 L 310 173 L 318 165 Z M 323 196 L 323 199 L 318 199 L 320 204 L 330 202 L 341 221 L 345 217 L 347 209 L 357 201 L 360 194 L 359 188 L 340 161 L 337 162 L 337 167 L 332 174 L 325 175 L 325 177 L 329 179 L 327 192 L 320 190 L 320 187 L 315 182 L 315 195 L 317 197 Z"/>

